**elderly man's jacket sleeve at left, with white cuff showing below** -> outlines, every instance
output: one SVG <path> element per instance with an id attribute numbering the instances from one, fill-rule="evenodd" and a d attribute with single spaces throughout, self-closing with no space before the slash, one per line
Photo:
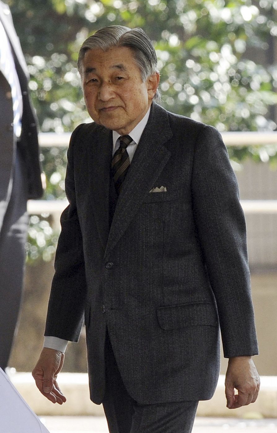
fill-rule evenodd
<path id="1" fill-rule="evenodd" d="M 78 126 L 72 133 L 68 148 L 68 165 L 65 177 L 65 192 L 68 207 L 61 216 L 62 231 L 59 236 L 55 275 L 46 318 L 46 336 L 78 341 L 83 323 L 86 298 L 85 264 L 83 242 L 78 220 L 74 184 L 74 143 Z"/>

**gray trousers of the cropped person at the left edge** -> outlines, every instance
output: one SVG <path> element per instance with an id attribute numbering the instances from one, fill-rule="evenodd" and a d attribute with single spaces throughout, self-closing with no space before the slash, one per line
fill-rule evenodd
<path id="1" fill-rule="evenodd" d="M 17 150 L 13 189 L 0 227 L 0 367 L 8 365 L 20 311 L 28 228 L 23 159 Z"/>

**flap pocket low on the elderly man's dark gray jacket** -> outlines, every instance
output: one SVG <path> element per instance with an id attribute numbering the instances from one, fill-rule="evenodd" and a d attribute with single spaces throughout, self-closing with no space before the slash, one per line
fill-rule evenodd
<path id="1" fill-rule="evenodd" d="M 164 330 L 218 324 L 215 306 L 208 302 L 168 305 L 159 307 L 156 311 L 159 325 Z"/>

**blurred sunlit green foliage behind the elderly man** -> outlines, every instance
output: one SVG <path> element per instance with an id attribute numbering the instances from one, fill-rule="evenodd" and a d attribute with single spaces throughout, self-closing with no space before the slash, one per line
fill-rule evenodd
<path id="1" fill-rule="evenodd" d="M 140 26 L 153 40 L 162 105 L 220 131 L 274 130 L 277 0 L 7 0 L 42 132 L 91 119 L 76 60 L 103 26 Z M 266 144 L 266 143 L 263 143 Z M 233 160 L 277 160 L 274 146 L 229 148 Z M 44 149 L 45 199 L 64 198 L 65 150 Z M 38 222 L 37 224 L 39 224 Z"/>

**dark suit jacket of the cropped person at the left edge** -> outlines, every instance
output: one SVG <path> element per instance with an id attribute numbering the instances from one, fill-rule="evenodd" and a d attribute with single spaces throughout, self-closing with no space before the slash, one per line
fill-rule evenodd
<path id="1" fill-rule="evenodd" d="M 29 98 L 27 65 L 20 47 L 20 42 L 13 27 L 13 20 L 9 6 L 0 1 L 0 20 L 6 30 L 16 72 L 19 78 L 22 98 L 23 116 L 22 133 L 20 142 L 16 143 L 13 134 L 13 100 L 10 85 L 0 71 L 0 227 L 5 215 L 10 198 L 13 167 L 15 162 L 16 147 L 22 152 L 28 177 L 28 198 L 42 196 L 42 184 L 40 178 L 39 143 L 37 134 L 36 117 Z"/>

